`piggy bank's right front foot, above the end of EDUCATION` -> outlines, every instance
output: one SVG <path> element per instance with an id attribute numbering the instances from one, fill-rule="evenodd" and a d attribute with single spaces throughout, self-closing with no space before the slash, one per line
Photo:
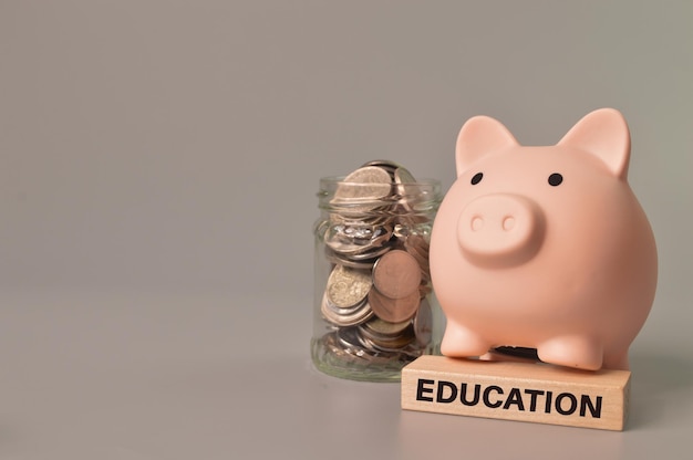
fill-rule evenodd
<path id="1" fill-rule="evenodd" d="M 555 337 L 537 346 L 545 363 L 588 370 L 601 368 L 603 353 L 600 341 L 585 336 Z"/>

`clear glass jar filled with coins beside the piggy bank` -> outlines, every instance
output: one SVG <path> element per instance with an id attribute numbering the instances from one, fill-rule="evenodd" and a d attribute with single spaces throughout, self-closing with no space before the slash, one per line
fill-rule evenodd
<path id="1" fill-rule="evenodd" d="M 376 160 L 320 179 L 318 198 L 312 362 L 341 378 L 399 381 L 406 364 L 439 353 L 428 243 L 441 185 Z"/>

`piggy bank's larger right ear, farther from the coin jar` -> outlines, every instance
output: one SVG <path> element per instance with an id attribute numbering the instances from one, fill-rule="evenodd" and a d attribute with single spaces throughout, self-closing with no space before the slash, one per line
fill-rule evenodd
<path id="1" fill-rule="evenodd" d="M 558 145 L 589 151 L 606 163 L 614 176 L 623 180 L 628 178 L 630 133 L 619 111 L 600 108 L 587 114 Z"/>

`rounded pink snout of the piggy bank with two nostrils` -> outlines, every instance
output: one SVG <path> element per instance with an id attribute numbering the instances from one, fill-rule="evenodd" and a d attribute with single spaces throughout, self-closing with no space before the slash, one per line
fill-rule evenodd
<path id="1" fill-rule="evenodd" d="M 457 240 L 469 262 L 488 268 L 531 259 L 544 239 L 544 213 L 529 198 L 494 194 L 470 201 L 459 215 Z"/>

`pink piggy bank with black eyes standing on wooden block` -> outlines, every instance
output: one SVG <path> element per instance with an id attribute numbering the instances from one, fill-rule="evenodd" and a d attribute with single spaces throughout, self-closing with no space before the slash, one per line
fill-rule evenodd
<path id="1" fill-rule="evenodd" d="M 557 365 L 629 368 L 656 286 L 654 237 L 628 185 L 629 156 L 628 125 L 611 108 L 555 146 L 520 146 L 485 116 L 462 127 L 457 180 L 431 236 L 444 355 L 520 346 Z"/>

